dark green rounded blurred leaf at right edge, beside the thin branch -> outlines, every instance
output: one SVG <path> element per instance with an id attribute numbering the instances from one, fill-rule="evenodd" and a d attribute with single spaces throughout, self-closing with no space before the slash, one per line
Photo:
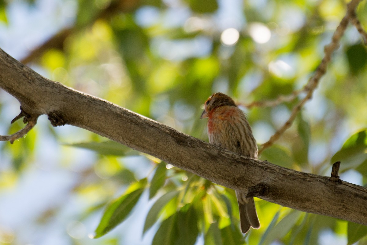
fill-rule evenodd
<path id="1" fill-rule="evenodd" d="M 348 57 L 349 68 L 353 74 L 364 69 L 367 64 L 367 50 L 362 44 L 349 46 L 346 55 Z"/>

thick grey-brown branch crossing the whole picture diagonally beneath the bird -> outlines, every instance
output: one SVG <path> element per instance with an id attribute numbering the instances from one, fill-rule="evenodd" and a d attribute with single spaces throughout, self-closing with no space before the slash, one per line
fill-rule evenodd
<path id="1" fill-rule="evenodd" d="M 367 189 L 238 155 L 42 77 L 0 49 L 0 87 L 30 118 L 92 131 L 272 203 L 367 225 Z"/>

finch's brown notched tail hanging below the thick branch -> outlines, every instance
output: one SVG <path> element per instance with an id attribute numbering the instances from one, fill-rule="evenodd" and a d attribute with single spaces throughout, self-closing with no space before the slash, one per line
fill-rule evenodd
<path id="1" fill-rule="evenodd" d="M 238 206 L 240 208 L 240 223 L 242 233 L 247 233 L 250 228 L 259 229 L 260 221 L 257 217 L 254 198 L 246 196 L 236 191 Z"/>

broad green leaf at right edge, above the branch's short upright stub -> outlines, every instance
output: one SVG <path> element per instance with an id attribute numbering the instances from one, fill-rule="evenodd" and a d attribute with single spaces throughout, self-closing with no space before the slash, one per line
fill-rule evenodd
<path id="1" fill-rule="evenodd" d="M 340 170 L 345 171 L 350 168 L 356 168 L 367 160 L 367 130 L 363 129 L 353 134 L 345 141 L 342 148 L 334 154 L 331 162 L 341 162 Z"/>

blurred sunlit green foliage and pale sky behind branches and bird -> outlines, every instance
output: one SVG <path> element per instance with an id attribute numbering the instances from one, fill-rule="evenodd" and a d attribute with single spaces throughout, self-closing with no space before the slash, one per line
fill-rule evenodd
<path id="1" fill-rule="evenodd" d="M 211 93 L 246 104 L 301 89 L 345 10 L 338 0 L 9 0 L 0 1 L 0 47 L 47 78 L 207 140 L 199 118 Z M 357 16 L 367 26 L 365 1 Z M 261 159 L 320 175 L 340 160 L 341 179 L 366 185 L 366 63 L 351 26 L 312 100 Z M 259 144 L 299 99 L 243 107 Z M 23 126 L 9 126 L 18 112 L 0 91 L 0 134 Z M 52 128 L 46 116 L 13 145 L 0 142 L 0 163 L 3 244 L 367 241 L 365 226 L 259 199 L 261 229 L 243 237 L 232 190 L 88 131 Z M 114 198 L 119 214 L 99 224 Z"/>

